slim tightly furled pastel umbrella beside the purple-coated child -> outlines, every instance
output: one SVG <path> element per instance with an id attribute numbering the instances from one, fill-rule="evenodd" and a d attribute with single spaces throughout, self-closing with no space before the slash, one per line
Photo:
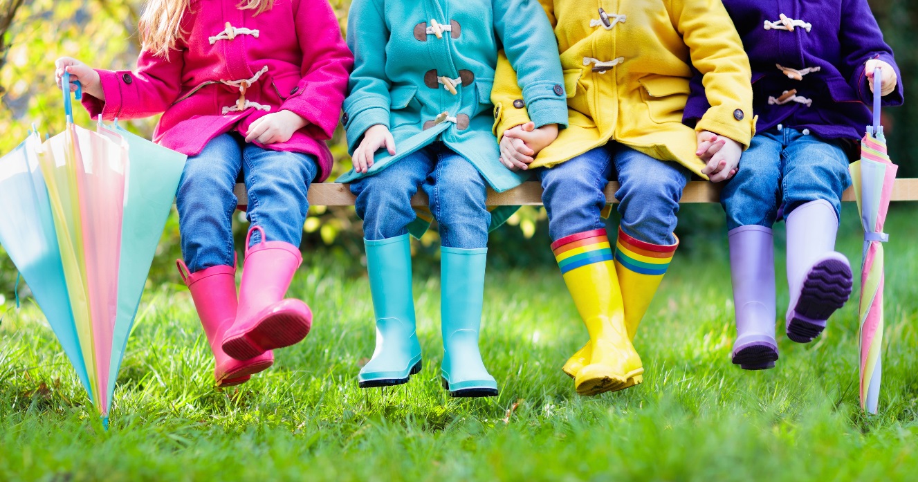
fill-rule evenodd
<path id="1" fill-rule="evenodd" d="M 851 176 L 864 228 L 859 305 L 860 404 L 868 413 L 877 413 L 882 376 L 880 350 L 883 344 L 883 232 L 890 208 L 892 187 L 899 166 L 890 161 L 883 127 L 879 123 L 879 69 L 874 73 L 873 126 L 861 140 L 861 158 L 850 166 Z"/>

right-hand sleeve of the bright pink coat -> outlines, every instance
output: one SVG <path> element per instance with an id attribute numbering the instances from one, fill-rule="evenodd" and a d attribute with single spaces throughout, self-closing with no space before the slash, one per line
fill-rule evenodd
<path id="1" fill-rule="evenodd" d="M 326 0 L 300 0 L 294 15 L 303 51 L 302 79 L 297 93 L 288 97 L 281 108 L 308 120 L 306 129 L 317 139 L 328 140 L 338 127 L 353 55 L 341 38 L 338 17 Z"/>

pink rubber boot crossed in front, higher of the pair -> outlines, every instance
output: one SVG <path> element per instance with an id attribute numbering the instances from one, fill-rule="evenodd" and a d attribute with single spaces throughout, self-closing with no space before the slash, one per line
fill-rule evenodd
<path id="1" fill-rule="evenodd" d="M 303 263 L 299 249 L 284 241 L 264 241 L 258 226 L 249 230 L 246 246 L 255 230 L 261 232 L 261 242 L 245 252 L 236 321 L 223 337 L 223 351 L 239 360 L 300 342 L 312 327 L 306 303 L 284 298 Z"/>

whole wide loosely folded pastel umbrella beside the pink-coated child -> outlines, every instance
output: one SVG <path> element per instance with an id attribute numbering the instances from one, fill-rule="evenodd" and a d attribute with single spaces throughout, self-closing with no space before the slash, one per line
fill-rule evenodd
<path id="1" fill-rule="evenodd" d="M 0 159 L 0 241 L 107 427 L 185 155 L 118 126 L 74 125 L 63 77 L 66 129 L 45 142 L 33 134 Z"/>

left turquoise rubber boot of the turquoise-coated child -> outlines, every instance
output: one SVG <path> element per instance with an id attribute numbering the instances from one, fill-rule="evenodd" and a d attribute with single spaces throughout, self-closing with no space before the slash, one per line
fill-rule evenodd
<path id="1" fill-rule="evenodd" d="M 364 240 L 364 246 L 376 317 L 376 349 L 357 379 L 361 388 L 401 385 L 420 372 L 409 235 Z"/>

